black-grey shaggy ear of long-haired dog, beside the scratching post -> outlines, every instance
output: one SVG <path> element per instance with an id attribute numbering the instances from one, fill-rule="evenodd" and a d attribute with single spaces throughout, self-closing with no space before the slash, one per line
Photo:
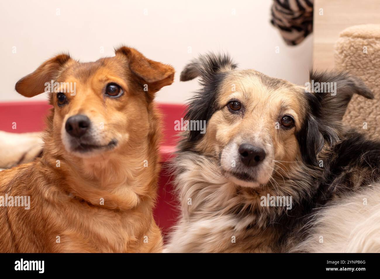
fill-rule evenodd
<path id="1" fill-rule="evenodd" d="M 314 70 L 305 94 L 309 110 L 297 137 L 304 161 L 318 165 L 317 155 L 323 146 L 333 145 L 342 136 L 342 119 L 352 96 L 373 99 L 374 95 L 358 77 Z"/>

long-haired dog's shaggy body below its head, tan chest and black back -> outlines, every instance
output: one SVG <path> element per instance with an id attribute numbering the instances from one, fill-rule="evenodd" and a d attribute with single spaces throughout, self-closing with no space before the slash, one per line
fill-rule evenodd
<path id="1" fill-rule="evenodd" d="M 166 252 L 288 252 L 308 234 L 321 208 L 379 180 L 380 143 L 350 134 L 321 154 L 323 168 L 295 168 L 275 188 L 236 188 L 215 160 L 193 152 L 176 159 L 181 215 Z M 355 150 L 360 150 L 358 153 Z M 293 208 L 260 205 L 260 197 L 293 197 Z"/>

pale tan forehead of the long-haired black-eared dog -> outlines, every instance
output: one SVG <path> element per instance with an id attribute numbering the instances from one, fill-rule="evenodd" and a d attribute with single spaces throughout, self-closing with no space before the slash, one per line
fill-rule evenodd
<path id="1" fill-rule="evenodd" d="M 300 88 L 287 80 L 266 76 L 255 70 L 231 71 L 220 86 L 220 105 L 230 99 L 242 102 L 276 103 L 281 105 L 300 103 Z"/>

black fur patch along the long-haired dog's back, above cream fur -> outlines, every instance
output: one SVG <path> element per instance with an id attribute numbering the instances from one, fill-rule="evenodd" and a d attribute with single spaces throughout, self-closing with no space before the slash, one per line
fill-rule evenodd
<path id="1" fill-rule="evenodd" d="M 318 218 L 318 211 L 329 202 L 336 203 L 338 199 L 358 193 L 379 181 L 380 142 L 368 140 L 355 131 L 348 131 L 343 137 L 326 154 L 325 164 L 314 177 L 307 195 L 293 200 L 293 208 L 289 212 L 271 221 L 277 224 L 279 252 L 287 252 L 286 247 L 293 246 L 293 241 L 306 237 L 312 229 L 308 227 L 309 222 Z M 281 180 L 278 182 L 281 185 Z"/>

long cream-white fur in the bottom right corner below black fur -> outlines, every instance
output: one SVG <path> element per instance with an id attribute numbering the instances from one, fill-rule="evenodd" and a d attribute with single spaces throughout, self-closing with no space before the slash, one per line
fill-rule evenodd
<path id="1" fill-rule="evenodd" d="M 292 252 L 380 253 L 380 184 L 318 212 L 310 227 Z"/>

